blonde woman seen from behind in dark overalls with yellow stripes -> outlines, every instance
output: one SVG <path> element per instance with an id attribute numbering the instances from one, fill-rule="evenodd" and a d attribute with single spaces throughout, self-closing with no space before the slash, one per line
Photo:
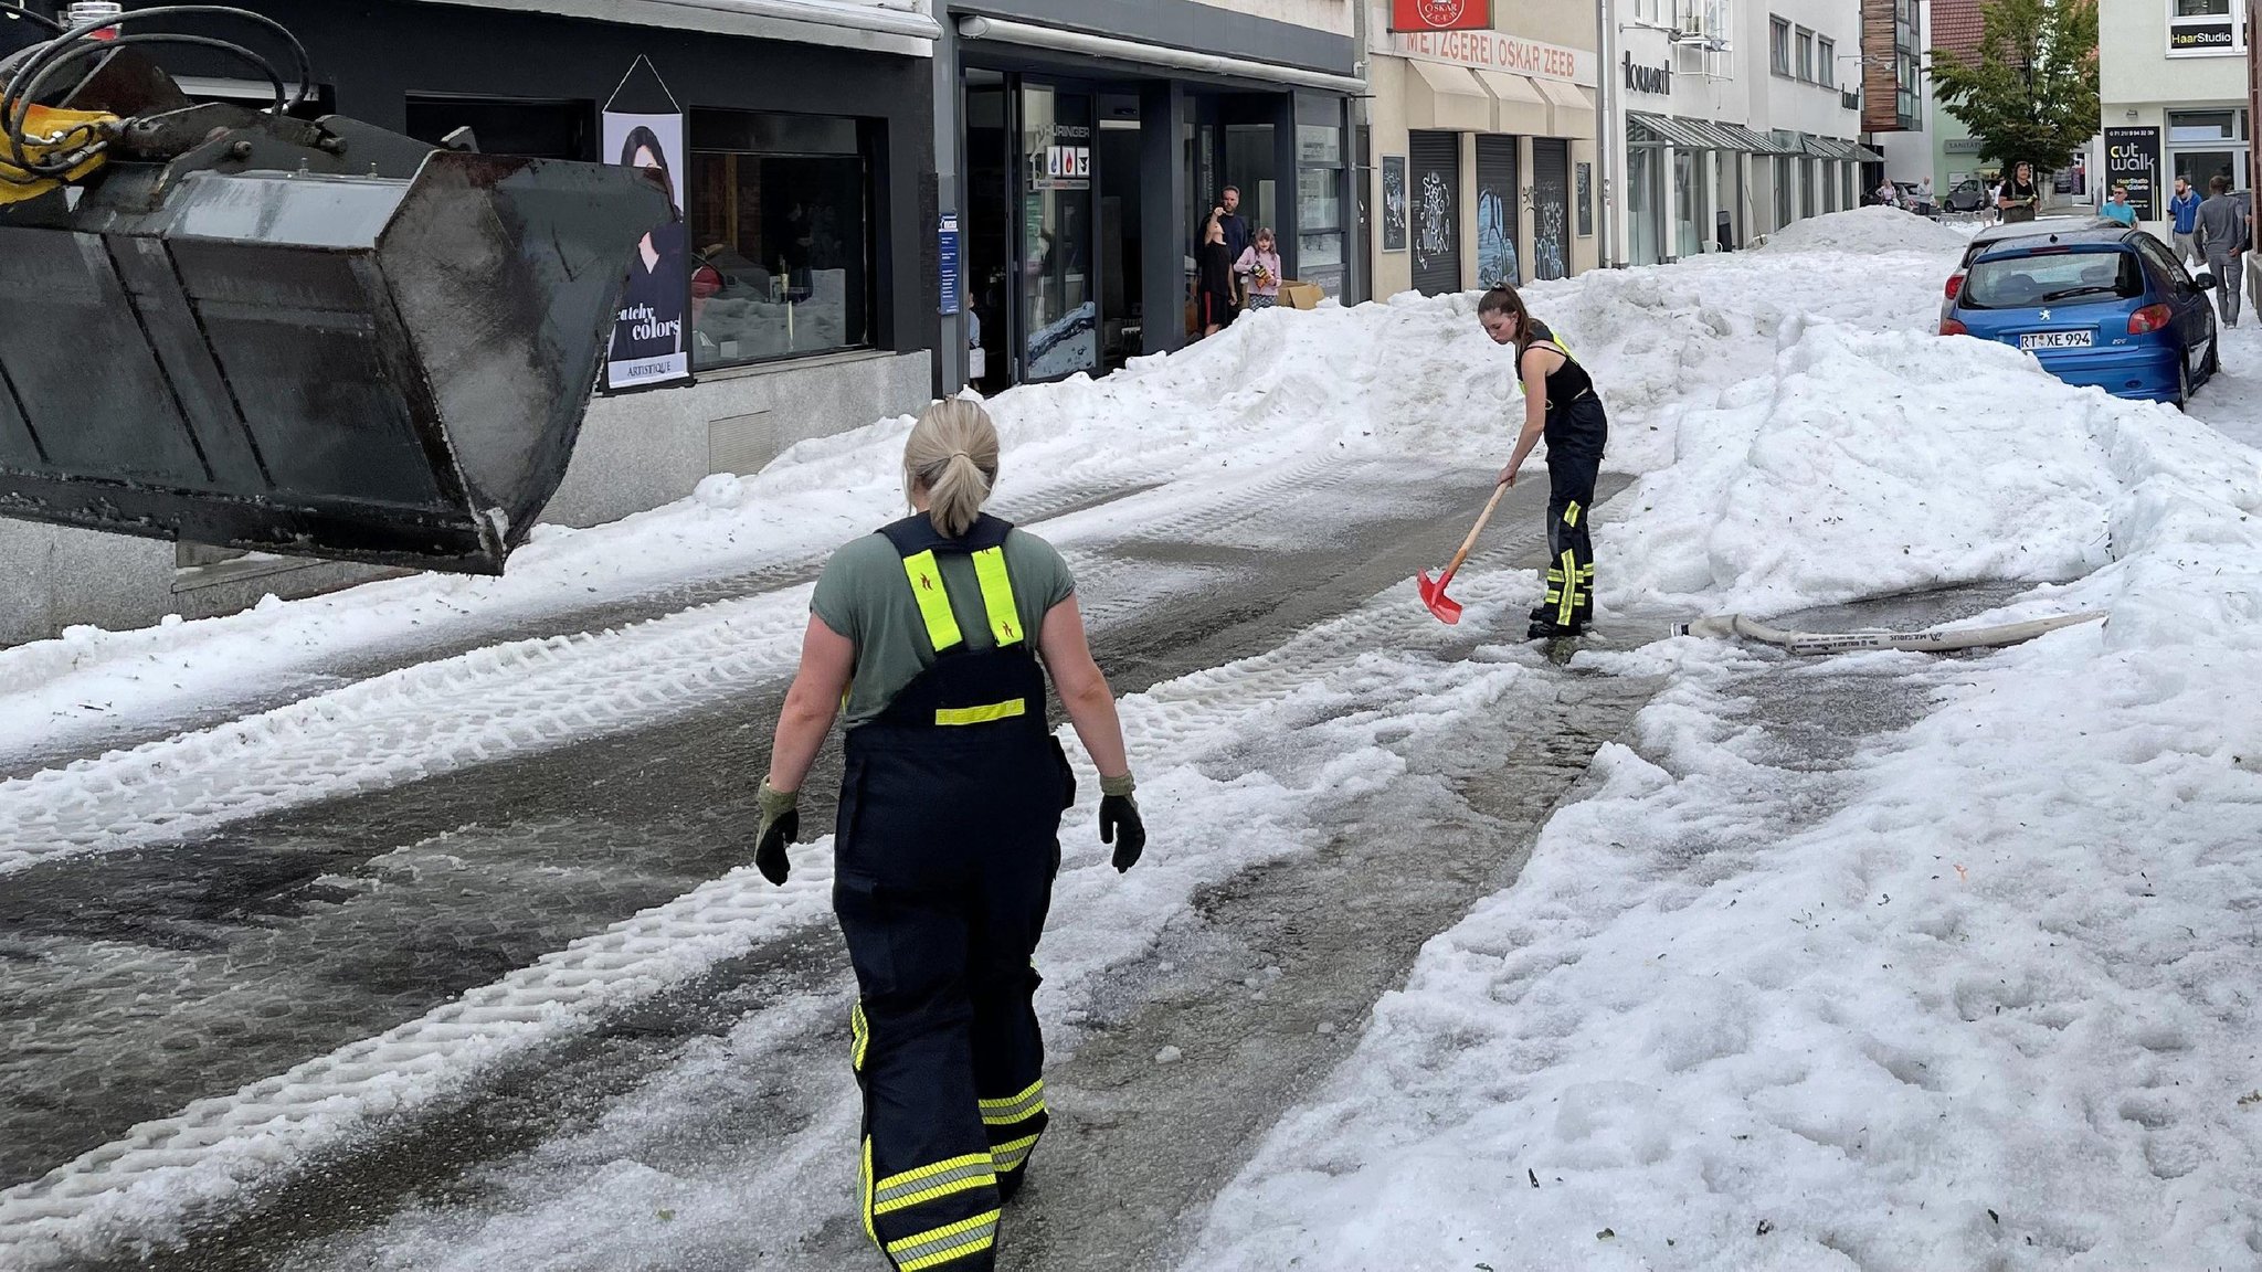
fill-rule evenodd
<path id="1" fill-rule="evenodd" d="M 1031 955 L 1074 803 L 1045 729 L 1047 670 L 1099 767 L 1117 871 L 1147 828 L 1068 566 L 982 512 L 998 480 L 982 405 L 927 407 L 903 473 L 914 516 L 848 543 L 817 579 L 753 860 L 785 885 L 801 781 L 846 711 L 832 910 L 857 980 L 857 1211 L 889 1267 L 991 1272 L 1000 1206 L 1047 1123 Z"/>

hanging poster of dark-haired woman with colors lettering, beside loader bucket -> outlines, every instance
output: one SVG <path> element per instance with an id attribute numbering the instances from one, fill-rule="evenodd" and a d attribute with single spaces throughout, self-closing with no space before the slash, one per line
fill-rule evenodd
<path id="1" fill-rule="evenodd" d="M 608 392 L 688 385 L 690 238 L 683 226 L 683 111 L 642 57 L 604 106 L 608 163 L 656 170 L 667 186 L 667 220 L 638 240 L 629 285 L 620 292 L 613 344 L 604 360 Z"/>

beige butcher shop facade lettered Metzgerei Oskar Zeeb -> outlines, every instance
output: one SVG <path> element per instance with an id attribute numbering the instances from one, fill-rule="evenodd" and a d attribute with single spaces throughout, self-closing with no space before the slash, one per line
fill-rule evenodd
<path id="1" fill-rule="evenodd" d="M 1378 5 L 1359 143 L 1373 294 L 1568 278 L 1601 263 L 1595 11 Z"/>

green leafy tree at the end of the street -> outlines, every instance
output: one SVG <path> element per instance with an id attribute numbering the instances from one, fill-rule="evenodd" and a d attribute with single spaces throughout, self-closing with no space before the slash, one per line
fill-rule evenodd
<path id="1" fill-rule="evenodd" d="M 2097 0 L 1988 0 L 1979 63 L 1932 50 L 1941 109 L 2009 172 L 2070 167 L 2097 136 Z"/>

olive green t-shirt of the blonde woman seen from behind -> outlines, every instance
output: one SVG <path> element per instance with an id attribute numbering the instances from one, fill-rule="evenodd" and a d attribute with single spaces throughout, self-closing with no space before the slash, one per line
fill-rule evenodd
<path id="1" fill-rule="evenodd" d="M 995 647 L 973 557 L 964 552 L 936 552 L 934 557 L 943 568 L 943 591 L 950 593 L 950 611 L 959 618 L 966 647 Z M 1052 613 L 1052 607 L 1077 591 L 1077 579 L 1061 552 L 1022 530 L 1013 530 L 1004 539 L 1004 573 L 1013 579 L 1013 609 L 1020 611 L 1020 629 L 1031 641 L 1045 629 L 1045 616 Z M 918 616 L 918 598 L 912 595 L 912 582 L 903 575 L 903 555 L 882 534 L 866 534 L 832 552 L 826 570 L 817 575 L 817 595 L 810 600 L 810 609 L 826 627 L 855 643 L 855 681 L 848 686 L 848 708 L 844 711 L 851 729 L 887 711 L 887 704 L 896 702 L 905 686 L 934 665 L 927 622 Z"/>

